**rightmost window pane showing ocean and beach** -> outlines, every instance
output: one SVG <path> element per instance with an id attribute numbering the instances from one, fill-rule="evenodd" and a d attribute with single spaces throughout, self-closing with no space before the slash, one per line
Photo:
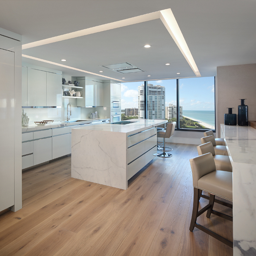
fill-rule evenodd
<path id="1" fill-rule="evenodd" d="M 214 77 L 180 79 L 180 128 L 215 130 Z"/>

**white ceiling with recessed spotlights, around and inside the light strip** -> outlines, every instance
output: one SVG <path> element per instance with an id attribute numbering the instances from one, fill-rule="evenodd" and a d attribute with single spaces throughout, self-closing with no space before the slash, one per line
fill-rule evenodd
<path id="1" fill-rule="evenodd" d="M 256 1 L 252 0 L 57 0 L 0 1 L 0 27 L 22 35 L 22 43 L 63 35 L 171 8 L 201 76 L 217 66 L 256 63 Z M 144 44 L 152 45 L 145 49 Z M 163 23 L 157 19 L 22 50 L 23 54 L 125 81 L 195 76 Z M 61 62 L 61 59 L 67 61 Z M 24 61 L 70 73 L 64 67 Z M 147 72 L 124 76 L 99 67 L 130 62 Z M 170 66 L 165 66 L 165 63 Z M 92 76 L 92 75 L 90 75 Z M 100 78 L 102 79 L 102 78 Z M 121 79 L 122 80 L 122 79 Z"/>

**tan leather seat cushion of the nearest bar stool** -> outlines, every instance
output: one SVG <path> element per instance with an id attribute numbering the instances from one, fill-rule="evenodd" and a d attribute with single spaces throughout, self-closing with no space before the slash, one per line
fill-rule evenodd
<path id="1" fill-rule="evenodd" d="M 232 201 L 232 176 L 229 171 L 212 171 L 197 181 L 197 188 Z"/>

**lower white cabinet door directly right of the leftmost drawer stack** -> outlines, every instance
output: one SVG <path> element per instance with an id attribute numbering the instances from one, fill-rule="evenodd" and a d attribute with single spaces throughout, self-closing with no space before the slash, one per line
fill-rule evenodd
<path id="1" fill-rule="evenodd" d="M 33 141 L 33 165 L 52 160 L 52 138 Z"/>

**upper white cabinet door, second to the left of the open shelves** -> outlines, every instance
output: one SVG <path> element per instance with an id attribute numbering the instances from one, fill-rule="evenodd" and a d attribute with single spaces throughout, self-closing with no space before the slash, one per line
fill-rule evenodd
<path id="1" fill-rule="evenodd" d="M 46 106 L 46 72 L 28 68 L 28 106 Z"/>

